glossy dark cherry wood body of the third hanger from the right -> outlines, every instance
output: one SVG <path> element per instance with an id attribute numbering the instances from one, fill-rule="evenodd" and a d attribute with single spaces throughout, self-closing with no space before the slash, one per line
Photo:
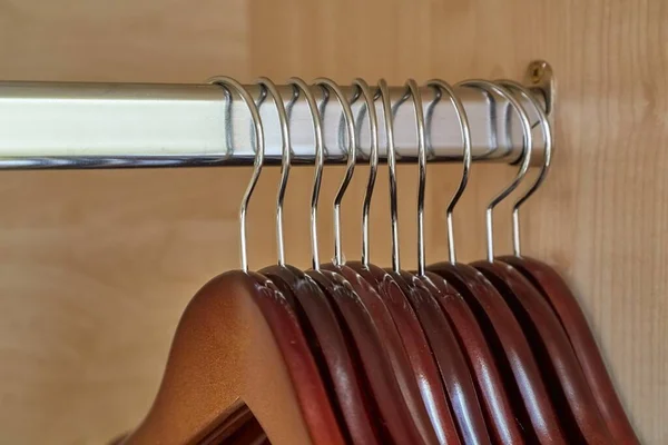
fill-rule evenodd
<path id="1" fill-rule="evenodd" d="M 529 343 L 508 304 L 477 269 L 439 263 L 428 270 L 443 277 L 464 298 L 481 327 L 503 378 L 513 412 L 529 442 L 570 444 Z"/>

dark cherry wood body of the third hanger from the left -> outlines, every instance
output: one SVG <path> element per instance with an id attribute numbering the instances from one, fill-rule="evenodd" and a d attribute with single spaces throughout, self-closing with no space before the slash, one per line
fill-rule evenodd
<path id="1" fill-rule="evenodd" d="M 387 353 L 386 337 L 351 284 L 338 274 L 308 270 L 306 274 L 330 298 L 338 324 L 354 345 L 355 357 L 366 376 L 366 385 L 376 403 L 381 424 L 387 428 L 386 443 L 434 444 L 436 436 L 422 406 L 416 385 L 396 376 L 393 356 Z M 397 380 L 399 379 L 399 380 Z M 420 416 L 426 418 L 422 422 Z"/>

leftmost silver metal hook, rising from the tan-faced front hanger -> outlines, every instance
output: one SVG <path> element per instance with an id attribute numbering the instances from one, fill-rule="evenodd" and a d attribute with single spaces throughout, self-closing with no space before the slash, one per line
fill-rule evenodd
<path id="1" fill-rule="evenodd" d="M 242 206 L 239 209 L 242 270 L 248 271 L 248 251 L 246 247 L 246 212 L 248 210 L 248 201 L 250 200 L 250 196 L 255 190 L 255 186 L 257 185 L 257 180 L 259 179 L 259 174 L 262 172 L 262 167 L 264 165 L 264 128 L 262 125 L 262 119 L 259 118 L 259 111 L 255 106 L 255 101 L 253 100 L 246 88 L 244 88 L 244 86 L 226 76 L 214 77 L 209 79 L 209 83 L 218 85 L 228 92 L 230 88 L 236 90 L 236 92 L 244 100 L 244 103 L 246 103 L 246 107 L 248 107 L 248 110 L 250 111 L 250 118 L 253 119 L 255 135 L 255 160 L 253 162 L 253 175 L 250 176 L 250 182 L 248 184 L 248 187 L 244 192 L 244 197 L 242 198 Z"/>

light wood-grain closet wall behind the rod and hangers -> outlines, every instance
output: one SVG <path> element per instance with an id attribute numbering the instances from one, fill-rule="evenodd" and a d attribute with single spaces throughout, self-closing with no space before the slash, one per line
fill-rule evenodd
<path id="1" fill-rule="evenodd" d="M 668 443 L 668 3 L 660 0 L 0 0 L 0 78 L 197 82 L 212 75 L 559 80 L 558 152 L 523 218 L 525 253 L 578 290 L 645 443 Z M 0 122 L 0 125 L 2 125 Z M 288 260 L 307 266 L 312 171 L 293 170 Z M 430 260 L 459 167 L 430 169 Z M 191 295 L 235 268 L 247 169 L 7 172 L 0 178 L 0 442 L 99 444 L 135 425 Z M 462 259 L 483 255 L 482 209 L 513 174 L 474 166 L 458 209 Z M 323 202 L 341 170 L 326 170 Z M 358 255 L 362 169 L 346 197 Z M 401 170 L 402 245 L 414 261 L 414 168 Z M 277 171 L 250 208 L 250 261 L 274 260 Z M 385 181 L 380 181 L 383 187 Z M 389 263 L 386 195 L 373 260 Z M 321 216 L 331 255 L 331 211 Z M 498 222 L 509 251 L 509 212 Z"/>

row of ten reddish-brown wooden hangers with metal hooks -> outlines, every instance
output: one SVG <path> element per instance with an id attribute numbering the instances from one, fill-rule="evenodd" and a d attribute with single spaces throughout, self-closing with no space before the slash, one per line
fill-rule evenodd
<path id="1" fill-rule="evenodd" d="M 312 268 L 285 258 L 283 201 L 292 159 L 284 98 L 266 78 L 259 101 L 234 79 L 212 80 L 239 95 L 252 116 L 255 161 L 240 206 L 240 269 L 212 279 L 190 300 L 176 330 L 154 405 L 122 444 L 638 444 L 577 298 L 559 274 L 521 255 L 520 209 L 542 185 L 553 134 L 544 106 L 511 80 L 469 80 L 508 100 L 520 120 L 524 150 L 519 171 L 487 207 L 487 256 L 458 263 L 453 212 L 471 174 L 471 130 L 453 88 L 428 82 L 449 100 L 461 130 L 463 172 L 445 206 L 449 257 L 425 264 L 424 198 L 429 140 L 421 90 L 405 85 L 418 135 L 418 261 L 402 268 L 393 109 L 384 80 L 353 81 L 346 97 L 330 79 L 316 79 L 343 112 L 340 142 L 347 165 L 334 200 L 334 258 L 321 264 L 317 210 L 324 170 L 322 109 L 311 86 L 289 80 L 311 109 L 315 176 L 311 198 Z M 523 101 L 518 100 L 521 97 Z M 379 162 L 380 99 L 387 135 L 391 267 L 371 259 L 370 208 Z M 351 102 L 369 113 L 370 172 L 362 211 L 362 255 L 346 261 L 342 202 L 353 178 L 360 139 Z M 264 167 L 265 128 L 258 107 L 272 101 L 282 136 L 276 200 L 277 263 L 250 271 L 247 209 Z M 531 166 L 539 117 L 544 140 L 537 179 L 514 201 L 513 255 L 495 256 L 493 210 L 522 184 Z M 404 207 L 405 202 L 404 202 Z"/>

